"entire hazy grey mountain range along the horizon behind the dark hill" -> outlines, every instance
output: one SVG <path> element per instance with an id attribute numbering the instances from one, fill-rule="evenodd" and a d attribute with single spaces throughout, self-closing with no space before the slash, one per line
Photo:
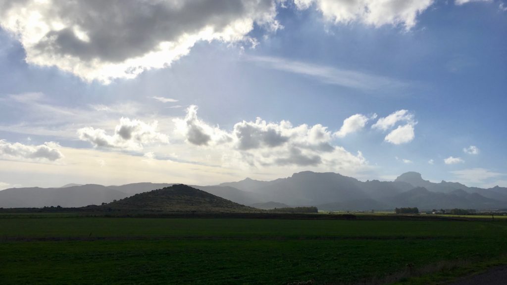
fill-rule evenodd
<path id="1" fill-rule="evenodd" d="M 95 184 L 60 188 L 11 188 L 0 191 L 0 207 L 80 207 L 163 189 L 173 183 L 134 183 L 121 186 Z M 467 187 L 460 183 L 433 183 L 420 173 L 406 172 L 394 181 L 362 182 L 333 172 L 303 171 L 273 181 L 245 179 L 215 186 L 192 186 L 232 202 L 269 209 L 282 206 L 317 206 L 322 210 L 382 210 L 507 208 L 507 188 Z"/>

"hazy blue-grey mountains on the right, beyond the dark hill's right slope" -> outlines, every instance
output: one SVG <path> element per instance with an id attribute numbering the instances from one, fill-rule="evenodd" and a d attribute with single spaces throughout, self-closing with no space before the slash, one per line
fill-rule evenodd
<path id="1" fill-rule="evenodd" d="M 405 206 L 421 209 L 507 207 L 507 188 L 483 189 L 445 181 L 433 183 L 423 180 L 420 173 L 413 171 L 403 173 L 392 182 L 361 182 L 333 172 L 303 171 L 274 181 L 245 179 L 221 185 L 259 194 L 269 201 L 289 205 L 316 205 L 319 209 L 328 210 L 392 209 Z M 457 190 L 460 191 L 455 192 Z"/>

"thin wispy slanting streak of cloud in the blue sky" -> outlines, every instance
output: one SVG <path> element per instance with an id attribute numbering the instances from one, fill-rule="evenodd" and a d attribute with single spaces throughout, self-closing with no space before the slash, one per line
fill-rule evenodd
<path id="1" fill-rule="evenodd" d="M 255 62 L 267 68 L 312 77 L 324 84 L 339 85 L 365 91 L 397 89 L 406 86 L 401 81 L 383 76 L 279 57 L 248 56 L 245 57 L 245 60 Z"/>

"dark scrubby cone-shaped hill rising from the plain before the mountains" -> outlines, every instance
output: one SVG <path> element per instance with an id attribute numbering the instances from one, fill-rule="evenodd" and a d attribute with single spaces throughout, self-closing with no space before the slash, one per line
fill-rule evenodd
<path id="1" fill-rule="evenodd" d="M 112 202 L 103 207 L 129 211 L 253 212 L 247 207 L 205 191 L 177 184 Z"/>

